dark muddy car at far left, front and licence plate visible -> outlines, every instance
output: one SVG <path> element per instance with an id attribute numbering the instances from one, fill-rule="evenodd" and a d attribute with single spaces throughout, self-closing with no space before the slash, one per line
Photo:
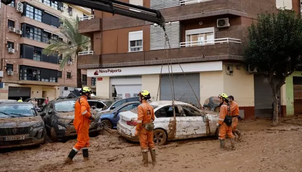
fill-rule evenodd
<path id="1" fill-rule="evenodd" d="M 0 148 L 40 145 L 45 141 L 44 122 L 31 103 L 1 103 Z"/>

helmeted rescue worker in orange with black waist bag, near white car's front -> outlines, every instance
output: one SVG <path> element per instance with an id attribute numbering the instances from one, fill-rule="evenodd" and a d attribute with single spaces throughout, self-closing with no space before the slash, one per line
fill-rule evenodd
<path id="1" fill-rule="evenodd" d="M 231 117 L 231 107 L 228 104 L 228 97 L 226 94 L 220 94 L 221 107 L 219 113 L 219 120 L 217 127 L 219 128 L 219 140 L 220 140 L 220 149 L 225 149 L 225 139 L 226 136 L 230 138 L 232 150 L 235 150 L 235 136 L 232 134 L 232 117 Z"/>

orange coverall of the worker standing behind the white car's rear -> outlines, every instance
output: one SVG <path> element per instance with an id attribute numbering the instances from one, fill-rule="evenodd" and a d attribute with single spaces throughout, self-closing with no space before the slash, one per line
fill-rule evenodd
<path id="1" fill-rule="evenodd" d="M 139 132 L 138 137 L 142 151 L 147 152 L 148 149 L 155 149 L 153 142 L 153 131 L 148 131 L 143 127 L 143 125 L 154 121 L 154 109 L 145 101 L 137 107 L 137 111 L 138 113 L 135 130 Z"/>

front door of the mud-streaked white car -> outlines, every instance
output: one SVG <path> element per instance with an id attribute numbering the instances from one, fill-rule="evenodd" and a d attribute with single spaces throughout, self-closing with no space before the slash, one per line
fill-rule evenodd
<path id="1" fill-rule="evenodd" d="M 186 115 L 189 137 L 199 137 L 207 134 L 206 123 L 200 111 L 188 105 L 182 105 L 181 107 L 182 113 Z"/>

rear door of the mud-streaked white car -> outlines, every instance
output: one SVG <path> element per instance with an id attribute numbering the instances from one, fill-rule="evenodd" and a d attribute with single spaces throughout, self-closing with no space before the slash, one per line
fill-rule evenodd
<path id="1" fill-rule="evenodd" d="M 183 139 L 187 137 L 187 121 L 183 116 L 179 107 L 175 105 L 175 118 L 176 118 L 176 131 L 173 131 L 173 106 L 165 106 L 155 112 L 156 118 L 159 119 L 159 124 L 154 124 L 155 128 L 157 125 L 163 125 L 168 132 L 169 139 Z"/>

